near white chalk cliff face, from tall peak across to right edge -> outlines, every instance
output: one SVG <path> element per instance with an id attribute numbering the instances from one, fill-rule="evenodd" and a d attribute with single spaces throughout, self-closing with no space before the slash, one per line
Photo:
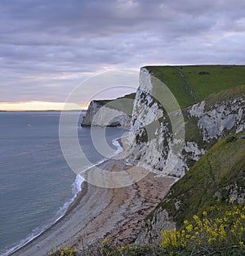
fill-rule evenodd
<path id="1" fill-rule="evenodd" d="M 220 137 L 245 128 L 244 87 L 238 88 L 237 93 L 231 89 L 185 108 L 182 110 L 185 128 L 179 118 L 178 130 L 173 127 L 176 124 L 172 124 L 172 112 L 168 111 L 167 115 L 164 110 L 168 106 L 159 102 L 161 84 L 157 83 L 147 69 L 140 70 L 140 87 L 136 92 L 131 137 L 128 138 L 131 145 L 128 164 L 137 164 L 158 174 L 182 177 Z M 173 115 L 180 116 L 180 110 Z M 182 136 L 176 139 L 173 136 L 176 132 Z M 173 153 L 176 143 L 182 150 Z"/>

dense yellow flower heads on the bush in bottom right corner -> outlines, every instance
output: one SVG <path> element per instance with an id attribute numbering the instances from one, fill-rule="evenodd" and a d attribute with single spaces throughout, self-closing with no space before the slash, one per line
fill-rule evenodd
<path id="1" fill-rule="evenodd" d="M 210 212 L 213 210 L 211 207 Z M 220 248 L 225 245 L 237 245 L 245 248 L 245 206 L 243 209 L 234 206 L 220 218 L 212 219 L 207 215 L 208 211 L 203 211 L 202 218 L 194 215 L 193 222 L 185 220 L 180 231 L 176 228 L 162 231 L 163 240 L 160 246 L 169 254 L 172 254 L 174 248 L 194 248 L 196 245 Z"/>

